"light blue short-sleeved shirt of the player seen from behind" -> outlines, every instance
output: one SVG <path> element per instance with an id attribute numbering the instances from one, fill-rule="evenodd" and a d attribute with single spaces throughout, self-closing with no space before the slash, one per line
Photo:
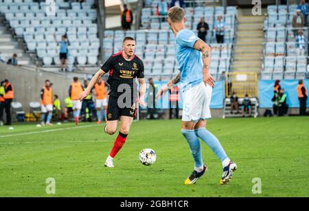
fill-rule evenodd
<path id="1" fill-rule="evenodd" d="M 194 49 L 194 44 L 198 39 L 194 32 L 186 29 L 176 35 L 175 54 L 179 71 L 181 71 L 183 90 L 203 82 L 202 54 Z"/>

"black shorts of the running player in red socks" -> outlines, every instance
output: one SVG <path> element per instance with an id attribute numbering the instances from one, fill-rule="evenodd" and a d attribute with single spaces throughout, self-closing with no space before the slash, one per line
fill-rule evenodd
<path id="1" fill-rule="evenodd" d="M 136 103 L 130 102 L 130 106 L 120 108 L 118 105 L 118 98 L 109 96 L 106 114 L 107 121 L 119 120 L 122 115 L 135 118 Z"/>

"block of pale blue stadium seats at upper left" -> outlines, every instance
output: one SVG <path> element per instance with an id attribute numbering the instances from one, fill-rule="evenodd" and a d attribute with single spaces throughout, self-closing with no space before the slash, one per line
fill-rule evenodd
<path id="1" fill-rule="evenodd" d="M 56 0 L 55 10 L 49 10 L 45 1 L 0 0 L 1 15 L 14 30 L 16 37 L 23 38 L 27 52 L 36 53 L 43 65 L 59 65 L 59 46 L 54 41 L 67 34 L 69 60 L 78 65 L 96 65 L 100 41 L 95 22 L 97 11 L 94 0 L 82 3 Z M 71 58 L 70 58 L 71 57 Z"/>

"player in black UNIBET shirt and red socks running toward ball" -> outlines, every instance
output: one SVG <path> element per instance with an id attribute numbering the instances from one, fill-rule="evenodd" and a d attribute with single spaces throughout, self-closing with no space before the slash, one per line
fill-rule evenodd
<path id="1" fill-rule="evenodd" d="M 99 78 L 109 71 L 107 82 L 110 85 L 110 91 L 108 93 L 107 121 L 104 131 L 113 135 L 117 131 L 117 123 L 120 120 L 119 135 L 105 162 L 105 166 L 109 168 L 114 167 L 113 158 L 126 142 L 126 137 L 136 114 L 136 103 L 145 105 L 144 64 L 141 59 L 135 56 L 135 39 L 125 37 L 122 48 L 122 52 L 114 54 L 106 60 L 89 82 L 87 89 L 80 94 L 80 100 L 86 98 Z M 139 98 L 135 78 L 138 79 L 140 85 Z M 139 100 L 137 101 L 137 99 Z"/>

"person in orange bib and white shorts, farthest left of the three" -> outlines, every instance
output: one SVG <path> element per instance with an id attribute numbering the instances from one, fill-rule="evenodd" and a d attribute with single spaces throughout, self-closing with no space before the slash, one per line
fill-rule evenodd
<path id="1" fill-rule="evenodd" d="M 53 125 L 50 123 L 53 117 L 53 89 L 52 83 L 45 80 L 45 86 L 41 89 L 41 125 L 45 125 L 45 117 L 47 114 L 46 125 Z"/>

